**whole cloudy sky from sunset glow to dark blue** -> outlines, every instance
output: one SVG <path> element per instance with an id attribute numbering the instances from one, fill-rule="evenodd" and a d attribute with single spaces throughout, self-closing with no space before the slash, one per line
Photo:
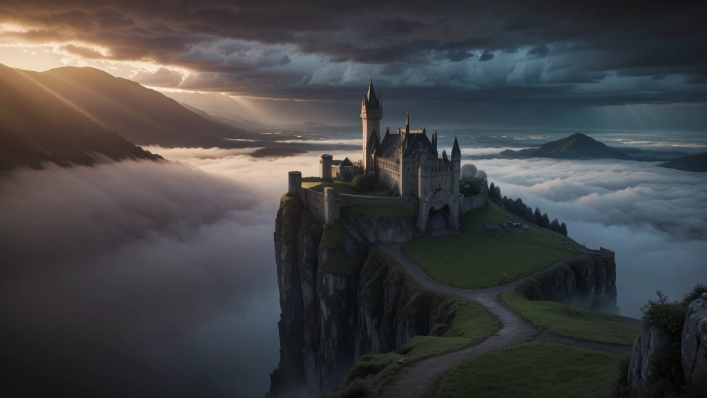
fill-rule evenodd
<path id="1" fill-rule="evenodd" d="M 206 110 L 220 103 L 274 123 L 360 123 L 356 106 L 373 73 L 394 126 L 409 110 L 443 127 L 701 129 L 706 8 L 4 0 L 0 63 L 98 67 Z"/>

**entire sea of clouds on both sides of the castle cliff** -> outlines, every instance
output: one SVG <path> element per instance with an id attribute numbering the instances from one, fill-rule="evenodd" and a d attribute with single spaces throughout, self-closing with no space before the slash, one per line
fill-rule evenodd
<path id="1" fill-rule="evenodd" d="M 262 397 L 279 360 L 276 211 L 287 171 L 316 175 L 318 154 L 146 149 L 170 161 L 0 179 L 1 314 L 194 379 L 210 397 Z M 707 283 L 707 174 L 632 161 L 473 163 L 576 241 L 616 251 L 623 314 L 639 317 L 655 290 L 677 299 Z"/>

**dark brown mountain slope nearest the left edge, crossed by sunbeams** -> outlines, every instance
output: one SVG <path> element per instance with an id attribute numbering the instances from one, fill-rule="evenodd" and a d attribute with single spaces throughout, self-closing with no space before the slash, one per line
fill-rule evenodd
<path id="1" fill-rule="evenodd" d="M 162 159 L 112 132 L 51 89 L 53 78 L 0 64 L 0 171 L 45 162 Z"/>

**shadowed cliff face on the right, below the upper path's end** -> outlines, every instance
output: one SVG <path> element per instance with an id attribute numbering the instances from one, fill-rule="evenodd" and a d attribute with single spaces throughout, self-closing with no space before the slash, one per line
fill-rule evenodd
<path id="1" fill-rule="evenodd" d="M 618 314 L 616 277 L 613 256 L 587 257 L 527 279 L 516 291 L 530 300 Z"/>

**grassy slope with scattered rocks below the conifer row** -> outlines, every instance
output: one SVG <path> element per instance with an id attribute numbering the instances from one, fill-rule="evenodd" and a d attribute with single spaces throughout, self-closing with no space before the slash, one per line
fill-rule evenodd
<path id="1" fill-rule="evenodd" d="M 523 222 L 530 225 L 530 229 L 522 234 L 514 234 L 513 232 L 503 231 L 503 229 L 501 229 L 499 233 L 506 235 L 506 238 L 508 239 L 529 241 L 539 244 L 549 244 L 551 246 L 566 246 L 571 249 L 585 249 L 582 245 L 575 243 L 575 241 L 569 239 L 568 237 L 563 237 L 560 234 L 555 234 L 547 229 L 539 228 L 525 220 L 522 220 L 513 213 L 503 210 L 503 208 L 496 205 L 496 203 L 489 203 L 488 206 L 482 206 L 474 209 L 461 217 L 462 228 L 474 232 L 481 232 L 481 230 L 484 229 L 484 224 L 506 221 Z M 566 241 L 567 243 L 562 244 L 562 241 Z"/>

